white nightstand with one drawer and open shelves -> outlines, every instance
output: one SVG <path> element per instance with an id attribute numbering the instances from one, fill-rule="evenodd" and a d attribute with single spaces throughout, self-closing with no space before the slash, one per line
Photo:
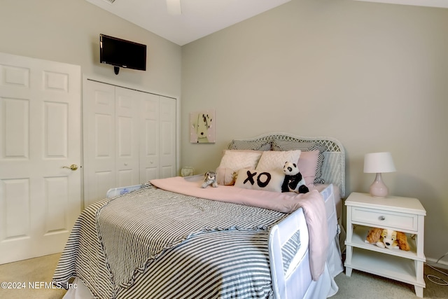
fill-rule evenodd
<path id="1" fill-rule="evenodd" d="M 351 193 L 346 205 L 346 275 L 356 269 L 413 284 L 423 297 L 423 228 L 426 210 L 419 200 L 409 197 L 372 197 Z M 388 228 L 405 232 L 410 251 L 383 249 L 365 243 L 370 228 Z"/>

